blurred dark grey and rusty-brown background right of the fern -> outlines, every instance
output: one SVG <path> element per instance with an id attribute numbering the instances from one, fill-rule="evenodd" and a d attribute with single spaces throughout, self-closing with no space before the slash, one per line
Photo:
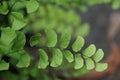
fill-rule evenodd
<path id="1" fill-rule="evenodd" d="M 90 7 L 85 14 L 78 13 L 91 26 L 86 37 L 87 44 L 94 43 L 97 48 L 104 50 L 103 62 L 107 62 L 109 67 L 101 73 L 92 70 L 74 80 L 120 80 L 120 9 L 112 10 L 110 5 L 97 5 Z"/>

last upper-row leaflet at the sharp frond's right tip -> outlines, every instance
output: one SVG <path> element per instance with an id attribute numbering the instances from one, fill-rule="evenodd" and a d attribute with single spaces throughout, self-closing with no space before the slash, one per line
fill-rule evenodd
<path id="1" fill-rule="evenodd" d="M 99 62 L 104 57 L 104 52 L 102 49 L 98 49 L 95 55 L 93 55 L 93 60 Z"/>

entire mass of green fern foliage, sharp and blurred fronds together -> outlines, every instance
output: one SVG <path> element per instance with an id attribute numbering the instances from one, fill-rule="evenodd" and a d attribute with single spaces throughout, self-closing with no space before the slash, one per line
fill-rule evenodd
<path id="1" fill-rule="evenodd" d="M 104 56 L 102 49 L 96 50 L 94 44 L 82 49 L 89 24 L 81 23 L 74 8 L 80 6 L 84 12 L 84 3 L 112 2 L 117 9 L 117 1 L 1 0 L 0 78 L 57 80 L 57 71 L 63 71 L 66 77 L 69 72 L 79 76 L 94 68 L 104 71 L 107 63 L 100 62 Z"/>

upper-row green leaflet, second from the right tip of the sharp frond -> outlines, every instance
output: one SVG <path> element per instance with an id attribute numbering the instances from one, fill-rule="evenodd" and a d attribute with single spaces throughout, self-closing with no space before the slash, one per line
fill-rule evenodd
<path id="1" fill-rule="evenodd" d="M 96 47 L 94 44 L 91 44 L 88 48 L 83 51 L 84 57 L 91 57 L 95 54 Z"/>

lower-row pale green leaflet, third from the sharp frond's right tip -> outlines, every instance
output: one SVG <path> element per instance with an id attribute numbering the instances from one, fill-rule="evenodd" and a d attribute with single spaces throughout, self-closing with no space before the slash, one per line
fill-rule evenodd
<path id="1" fill-rule="evenodd" d="M 81 57 L 81 54 L 75 54 L 75 69 L 80 69 L 84 65 L 83 58 Z"/>

